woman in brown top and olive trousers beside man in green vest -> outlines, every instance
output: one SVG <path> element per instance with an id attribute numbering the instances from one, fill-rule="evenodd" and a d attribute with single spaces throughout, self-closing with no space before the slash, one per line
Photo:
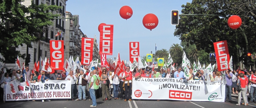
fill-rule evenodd
<path id="1" fill-rule="evenodd" d="M 102 88 L 102 99 L 103 99 L 103 101 L 106 101 L 105 92 L 107 93 L 108 100 L 112 99 L 112 97 L 110 97 L 110 94 L 109 94 L 109 85 L 110 84 L 107 85 L 107 80 L 108 80 L 107 70 L 102 69 L 102 75 L 100 77 L 100 81 L 102 81 L 101 82 L 101 88 Z"/>

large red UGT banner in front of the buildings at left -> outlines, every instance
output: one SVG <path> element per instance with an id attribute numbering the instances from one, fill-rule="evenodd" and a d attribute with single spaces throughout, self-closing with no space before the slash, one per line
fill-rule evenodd
<path id="1" fill-rule="evenodd" d="M 51 68 L 63 69 L 64 63 L 64 41 L 50 40 Z"/>

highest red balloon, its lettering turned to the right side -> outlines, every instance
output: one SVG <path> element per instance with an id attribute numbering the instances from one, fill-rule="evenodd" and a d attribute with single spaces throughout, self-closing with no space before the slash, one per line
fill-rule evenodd
<path id="1" fill-rule="evenodd" d="M 123 6 L 119 10 L 119 14 L 123 19 L 129 19 L 132 16 L 132 9 L 129 6 Z"/>

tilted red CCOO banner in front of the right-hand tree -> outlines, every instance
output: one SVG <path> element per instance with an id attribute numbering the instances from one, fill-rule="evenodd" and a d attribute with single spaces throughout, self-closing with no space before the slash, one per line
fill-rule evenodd
<path id="1" fill-rule="evenodd" d="M 216 62 L 218 65 L 218 71 L 226 70 L 228 67 L 226 67 L 226 59 L 229 62 L 229 52 L 228 52 L 228 43 L 226 40 L 214 42 L 214 50 L 216 54 Z M 227 54 L 227 57 L 226 57 Z"/>

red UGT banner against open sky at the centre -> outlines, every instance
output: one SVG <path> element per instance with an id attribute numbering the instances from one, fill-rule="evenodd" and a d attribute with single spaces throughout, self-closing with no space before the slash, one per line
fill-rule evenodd
<path id="1" fill-rule="evenodd" d="M 138 56 L 140 56 L 140 44 L 139 42 L 129 42 L 130 49 L 130 61 L 133 63 L 134 58 L 138 61 Z"/>

